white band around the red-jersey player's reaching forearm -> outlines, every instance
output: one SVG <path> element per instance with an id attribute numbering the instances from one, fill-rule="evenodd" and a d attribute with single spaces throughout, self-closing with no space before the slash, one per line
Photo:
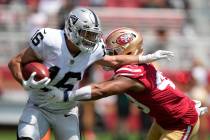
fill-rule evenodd
<path id="1" fill-rule="evenodd" d="M 68 91 L 70 100 L 87 100 L 91 98 L 91 86 L 84 86 L 80 89 Z"/>

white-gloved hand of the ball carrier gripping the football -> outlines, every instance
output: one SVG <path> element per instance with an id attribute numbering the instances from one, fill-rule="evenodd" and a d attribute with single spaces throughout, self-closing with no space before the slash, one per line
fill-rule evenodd
<path id="1" fill-rule="evenodd" d="M 22 81 L 22 85 L 26 90 L 42 89 L 46 87 L 51 81 L 51 79 L 48 77 L 45 77 L 40 81 L 35 81 L 34 80 L 35 76 L 36 72 L 33 72 L 28 80 Z"/>

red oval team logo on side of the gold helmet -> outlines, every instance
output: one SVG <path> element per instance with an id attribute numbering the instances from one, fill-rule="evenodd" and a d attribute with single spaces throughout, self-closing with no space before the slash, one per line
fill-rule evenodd
<path id="1" fill-rule="evenodd" d="M 121 36 L 119 36 L 116 40 L 116 43 L 119 45 L 125 45 L 133 40 L 134 36 L 129 33 L 124 33 Z"/>

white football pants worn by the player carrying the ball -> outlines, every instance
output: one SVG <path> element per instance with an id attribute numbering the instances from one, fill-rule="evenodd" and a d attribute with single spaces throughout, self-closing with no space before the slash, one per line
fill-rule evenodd
<path id="1" fill-rule="evenodd" d="M 78 107 L 68 114 L 54 114 L 28 103 L 18 124 L 18 137 L 40 140 L 49 127 L 56 140 L 79 140 Z"/>

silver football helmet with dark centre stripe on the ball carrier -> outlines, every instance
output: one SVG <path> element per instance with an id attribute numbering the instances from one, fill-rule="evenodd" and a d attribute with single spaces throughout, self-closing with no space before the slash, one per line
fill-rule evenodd
<path id="1" fill-rule="evenodd" d="M 98 16 L 87 8 L 73 9 L 65 21 L 66 36 L 81 51 L 91 52 L 102 37 Z"/>

